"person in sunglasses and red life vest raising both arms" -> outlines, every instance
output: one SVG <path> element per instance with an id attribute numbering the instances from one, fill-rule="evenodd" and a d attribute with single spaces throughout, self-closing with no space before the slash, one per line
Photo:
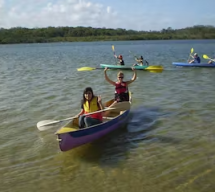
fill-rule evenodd
<path id="1" fill-rule="evenodd" d="M 129 81 L 123 81 L 124 79 L 123 72 L 122 71 L 118 72 L 116 82 L 109 79 L 106 72 L 107 70 L 108 68 L 106 67 L 104 69 L 105 80 L 115 87 L 115 99 L 114 99 L 115 102 L 113 104 L 117 102 L 122 102 L 122 101 L 129 101 L 128 85 L 136 80 L 137 78 L 136 70 L 132 68 L 134 74 L 132 79 Z M 113 106 L 113 104 L 111 106 Z"/>

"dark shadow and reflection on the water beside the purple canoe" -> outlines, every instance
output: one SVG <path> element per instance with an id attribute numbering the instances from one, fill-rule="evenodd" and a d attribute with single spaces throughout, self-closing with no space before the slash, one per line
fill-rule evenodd
<path id="1" fill-rule="evenodd" d="M 162 142 L 168 142 L 168 140 L 173 142 L 173 138 L 153 136 L 153 130 L 158 128 L 156 122 L 160 117 L 167 116 L 159 108 L 138 107 L 131 111 L 125 126 L 67 154 L 86 162 L 99 163 L 101 166 L 117 167 L 119 162 L 126 159 L 129 151 L 137 148 L 141 142 L 149 142 L 149 140 L 153 142 L 156 139 Z"/>

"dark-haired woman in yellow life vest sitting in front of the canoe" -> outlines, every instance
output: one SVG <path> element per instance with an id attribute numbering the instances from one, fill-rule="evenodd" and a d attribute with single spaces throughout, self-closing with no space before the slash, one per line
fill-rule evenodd
<path id="1" fill-rule="evenodd" d="M 87 113 L 92 113 L 102 109 L 104 109 L 104 106 L 102 104 L 101 96 L 95 96 L 91 87 L 85 88 L 83 99 L 81 101 L 81 111 L 77 115 L 79 118 L 79 128 L 90 127 L 102 123 L 103 115 L 101 112 L 86 115 Z"/>

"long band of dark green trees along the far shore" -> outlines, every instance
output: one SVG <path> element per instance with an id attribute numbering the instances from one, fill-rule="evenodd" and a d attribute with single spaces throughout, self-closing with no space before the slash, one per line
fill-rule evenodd
<path id="1" fill-rule="evenodd" d="M 215 39 L 215 27 L 198 25 L 184 29 L 135 31 L 92 27 L 0 28 L 0 44 L 74 41 Z"/>

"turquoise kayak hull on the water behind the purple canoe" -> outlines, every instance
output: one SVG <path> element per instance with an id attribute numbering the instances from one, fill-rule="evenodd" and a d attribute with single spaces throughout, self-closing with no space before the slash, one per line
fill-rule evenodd
<path id="1" fill-rule="evenodd" d="M 112 64 L 100 64 L 101 68 L 109 68 L 109 69 L 122 69 L 122 70 L 131 70 L 131 67 L 135 68 L 136 70 L 145 70 L 148 71 L 149 69 L 159 69 L 159 70 L 163 70 L 163 67 L 160 65 L 143 65 L 143 66 L 126 66 L 126 65 L 112 65 Z"/>

